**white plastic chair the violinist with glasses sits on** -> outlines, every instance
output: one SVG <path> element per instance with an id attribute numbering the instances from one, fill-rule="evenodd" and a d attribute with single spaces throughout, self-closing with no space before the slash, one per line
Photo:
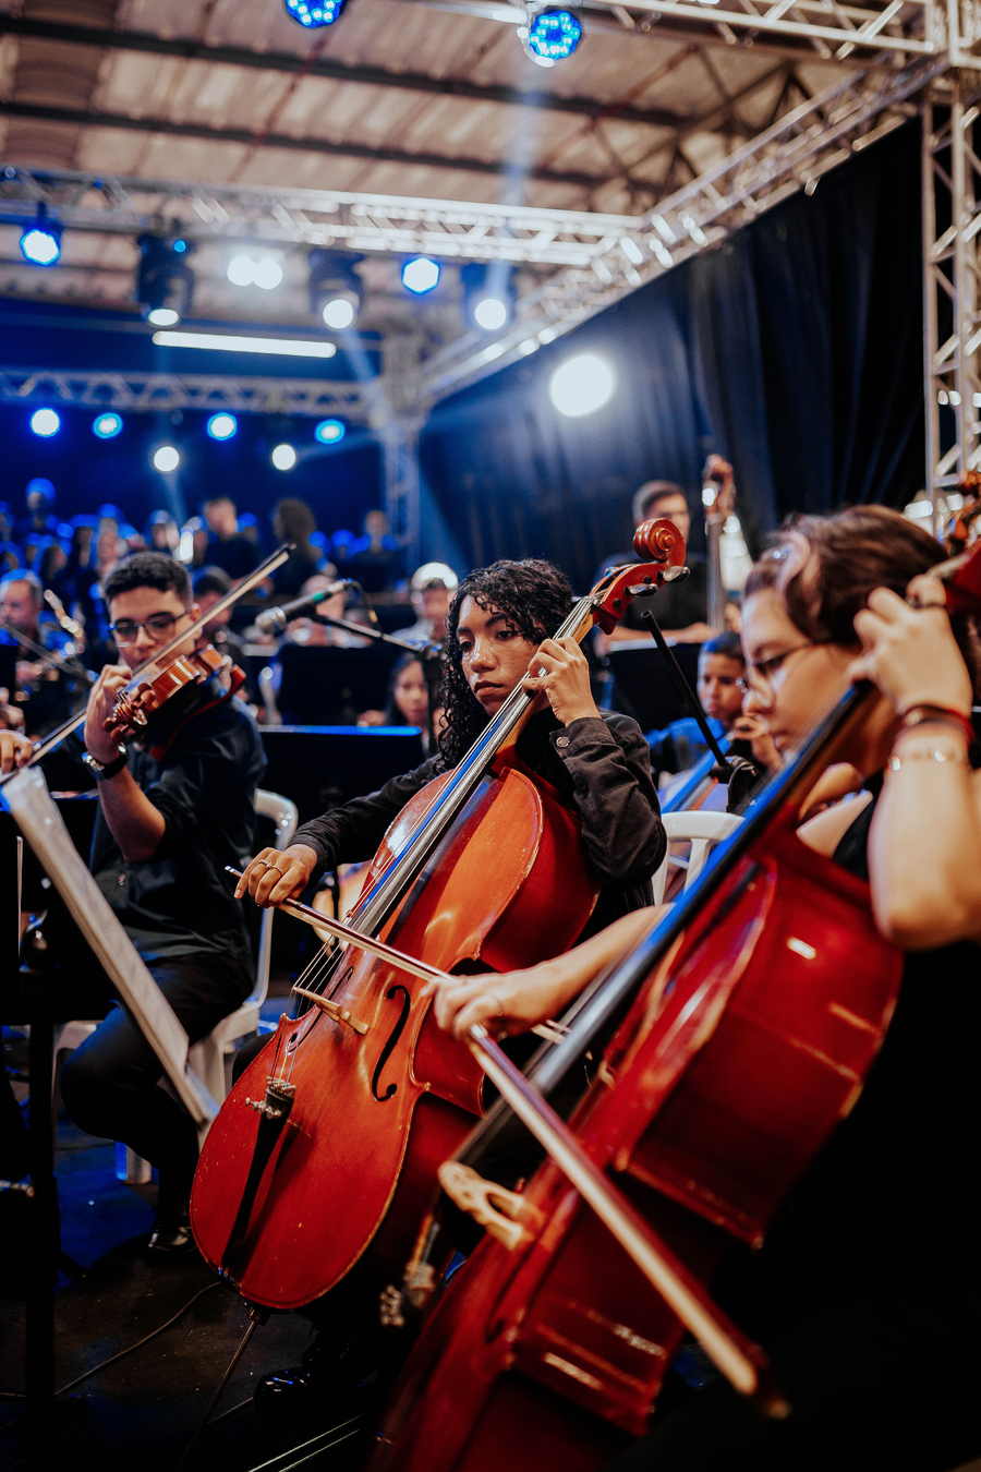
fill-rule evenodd
<path id="1" fill-rule="evenodd" d="M 272 818 L 275 826 L 275 846 L 288 848 L 297 830 L 300 814 L 294 802 L 279 796 L 278 792 L 256 790 L 256 813 L 259 817 Z M 222 1017 L 216 1027 L 206 1038 L 196 1042 L 188 1052 L 188 1061 L 212 1098 L 219 1104 L 228 1092 L 225 1088 L 225 1058 L 234 1052 L 240 1038 L 247 1038 L 259 1027 L 259 1013 L 269 991 L 269 960 L 272 955 L 272 916 L 274 910 L 263 910 L 259 927 L 259 951 L 256 957 L 256 985 L 252 995 L 241 1007 L 237 1007 L 228 1017 Z M 97 1022 L 66 1022 L 54 1032 L 54 1088 L 60 1078 L 65 1057 L 90 1038 L 99 1026 Z M 128 1185 L 146 1185 L 150 1181 L 150 1163 L 137 1156 L 122 1142 L 116 1142 L 116 1178 Z"/>

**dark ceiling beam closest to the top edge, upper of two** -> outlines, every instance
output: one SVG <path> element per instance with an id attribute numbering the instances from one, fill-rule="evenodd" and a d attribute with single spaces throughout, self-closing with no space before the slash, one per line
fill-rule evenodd
<path id="1" fill-rule="evenodd" d="M 579 118 L 603 118 L 610 110 L 609 103 L 597 102 L 594 97 L 563 97 L 544 88 L 541 91 L 519 91 L 516 87 L 494 87 L 472 82 L 463 77 L 427 77 L 424 72 L 390 72 L 382 66 L 349 66 L 329 57 L 310 59 L 293 52 L 253 52 L 246 46 L 209 46 L 206 41 L 153 35 L 149 31 L 110 31 L 103 26 L 3 15 L 0 16 L 0 35 L 4 32 L 41 41 L 94 46 L 106 52 L 141 52 L 150 56 L 174 56 L 187 62 L 213 62 L 225 66 L 247 66 L 262 72 L 322 77 L 327 81 L 359 82 L 366 87 L 397 87 L 403 91 L 429 93 L 435 97 L 463 97 L 468 102 L 538 107 L 546 112 L 574 113 Z M 634 122 L 652 128 L 677 128 L 685 121 L 681 113 L 668 107 L 627 105 L 616 107 L 615 115 L 619 122 Z"/>

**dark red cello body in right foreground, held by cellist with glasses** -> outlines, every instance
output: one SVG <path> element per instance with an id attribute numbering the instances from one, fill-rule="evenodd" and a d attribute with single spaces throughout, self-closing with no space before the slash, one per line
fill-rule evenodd
<path id="1" fill-rule="evenodd" d="M 703 1284 L 732 1238 L 762 1242 L 853 1107 L 899 992 L 868 886 L 794 832 L 828 730 L 624 963 L 640 991 L 572 1120 Z M 646 1429 L 681 1320 L 553 1163 L 519 1220 L 522 1242 L 485 1238 L 435 1309 L 372 1472 L 594 1472 Z"/>

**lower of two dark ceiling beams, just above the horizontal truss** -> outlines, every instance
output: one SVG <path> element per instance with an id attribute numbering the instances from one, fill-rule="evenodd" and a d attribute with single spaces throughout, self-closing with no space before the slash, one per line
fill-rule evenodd
<path id="1" fill-rule="evenodd" d="M 491 159 L 453 158 L 444 153 L 409 153 L 404 149 L 372 149 L 366 143 L 331 143 L 327 138 L 297 137 L 290 132 L 256 134 L 250 128 L 209 128 L 199 122 L 172 122 L 168 118 L 129 118 L 126 113 L 90 112 L 84 107 L 49 107 L 32 102 L 0 102 L 0 116 L 31 118 L 37 122 L 63 122 L 72 128 L 124 128 L 128 132 L 156 132 L 171 138 L 200 138 L 204 143 L 235 143 L 246 147 L 290 149 L 293 153 L 327 153 L 338 159 L 369 159 L 372 163 L 399 163 L 403 168 L 452 169 L 463 174 L 510 175 L 543 184 L 566 184 L 596 190 L 607 183 L 604 174 L 575 174 L 563 169 L 522 168 Z"/>

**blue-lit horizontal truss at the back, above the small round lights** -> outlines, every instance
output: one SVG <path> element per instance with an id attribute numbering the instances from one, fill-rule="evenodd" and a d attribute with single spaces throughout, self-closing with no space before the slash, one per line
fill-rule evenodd
<path id="1" fill-rule="evenodd" d="M 316 378 L 231 378 L 222 374 L 99 372 L 0 368 L 0 402 L 66 403 L 90 409 L 206 409 L 215 414 L 341 415 L 365 422 L 369 405 L 356 383 Z"/>

